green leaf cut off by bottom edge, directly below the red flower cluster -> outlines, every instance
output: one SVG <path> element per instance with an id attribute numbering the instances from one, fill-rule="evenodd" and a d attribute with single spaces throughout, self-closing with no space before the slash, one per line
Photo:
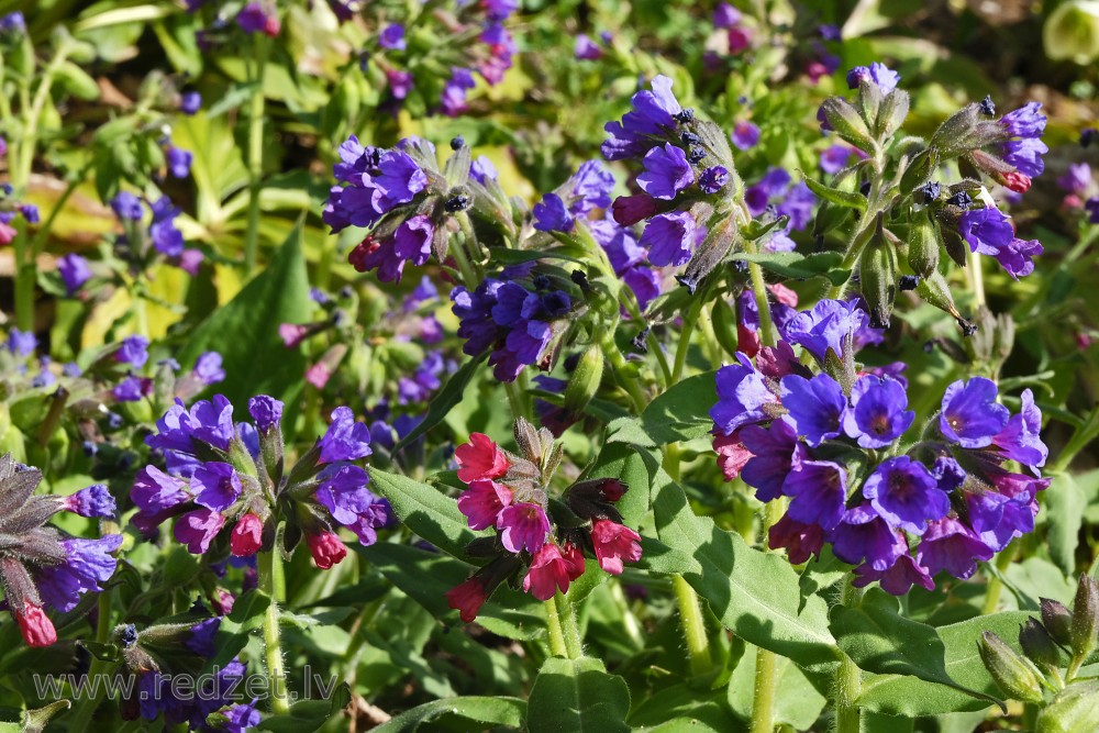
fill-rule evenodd
<path id="1" fill-rule="evenodd" d="M 591 657 L 550 657 L 531 688 L 531 733 L 618 733 L 630 731 L 630 688 Z"/>

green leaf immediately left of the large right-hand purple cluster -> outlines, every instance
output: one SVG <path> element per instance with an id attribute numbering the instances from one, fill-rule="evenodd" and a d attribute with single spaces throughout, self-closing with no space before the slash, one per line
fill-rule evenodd
<path id="1" fill-rule="evenodd" d="M 710 408 L 718 401 L 715 375 L 684 379 L 653 400 L 640 419 L 615 420 L 608 425 L 607 441 L 653 448 L 706 436 L 713 426 Z"/>

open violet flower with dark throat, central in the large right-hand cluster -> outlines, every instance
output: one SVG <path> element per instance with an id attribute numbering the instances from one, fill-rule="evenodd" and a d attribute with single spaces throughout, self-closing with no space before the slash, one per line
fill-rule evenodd
<path id="1" fill-rule="evenodd" d="M 926 466 L 909 456 L 881 462 L 863 484 L 863 496 L 889 526 L 915 535 L 951 509 L 950 498 Z"/>

